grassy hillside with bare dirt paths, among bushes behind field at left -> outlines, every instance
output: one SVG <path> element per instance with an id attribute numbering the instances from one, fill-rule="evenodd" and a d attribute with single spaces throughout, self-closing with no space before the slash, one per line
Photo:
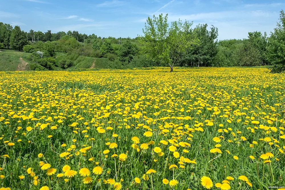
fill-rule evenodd
<path id="1" fill-rule="evenodd" d="M 0 71 L 19 71 L 19 70 L 30 70 L 29 64 L 34 62 L 27 59 L 30 53 L 25 53 L 17 50 L 0 50 Z M 56 56 L 63 55 L 65 53 L 56 53 Z M 78 70 L 78 69 L 108 69 L 112 68 L 113 62 L 107 58 L 93 58 L 87 56 L 79 56 L 74 61 L 74 66 L 67 70 Z M 55 70 L 64 70 L 62 68 L 55 68 Z"/>

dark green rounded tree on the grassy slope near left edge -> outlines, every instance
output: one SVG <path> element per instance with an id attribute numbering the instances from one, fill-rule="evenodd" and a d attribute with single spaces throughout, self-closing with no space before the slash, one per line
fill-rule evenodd
<path id="1" fill-rule="evenodd" d="M 12 30 L 10 44 L 12 48 L 19 51 L 23 50 L 23 47 L 28 44 L 27 36 L 25 36 L 24 31 L 21 31 L 19 26 L 15 26 Z"/>

